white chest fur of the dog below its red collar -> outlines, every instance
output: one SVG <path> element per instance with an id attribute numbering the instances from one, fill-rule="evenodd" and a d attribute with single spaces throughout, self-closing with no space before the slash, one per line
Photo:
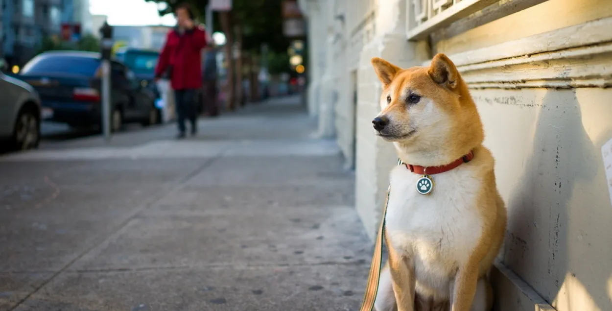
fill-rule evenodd
<path id="1" fill-rule="evenodd" d="M 476 203 L 482 181 L 463 165 L 432 175 L 433 190 L 422 195 L 416 189 L 420 177 L 403 165 L 391 171 L 387 237 L 397 252 L 414 260 L 417 290 L 446 296 L 482 234 Z"/>

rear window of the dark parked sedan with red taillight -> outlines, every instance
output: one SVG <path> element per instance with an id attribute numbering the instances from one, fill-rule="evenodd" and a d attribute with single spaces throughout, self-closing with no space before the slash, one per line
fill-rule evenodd
<path id="1" fill-rule="evenodd" d="M 38 73 L 72 73 L 93 77 L 100 66 L 100 60 L 78 55 L 41 55 L 23 66 L 21 74 L 35 75 Z"/>

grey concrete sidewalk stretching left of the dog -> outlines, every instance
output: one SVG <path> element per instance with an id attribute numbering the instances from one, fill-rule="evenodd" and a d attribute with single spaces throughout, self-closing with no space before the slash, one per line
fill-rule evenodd
<path id="1" fill-rule="evenodd" d="M 0 310 L 357 310 L 353 175 L 297 97 L 0 157 Z"/>

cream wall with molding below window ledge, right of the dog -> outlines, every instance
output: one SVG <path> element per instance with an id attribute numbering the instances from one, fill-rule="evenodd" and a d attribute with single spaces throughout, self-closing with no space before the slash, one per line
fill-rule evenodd
<path id="1" fill-rule="evenodd" d="M 433 47 L 471 85 L 496 158 L 503 263 L 558 311 L 612 310 L 611 16 L 612 1 L 550 0 Z"/>

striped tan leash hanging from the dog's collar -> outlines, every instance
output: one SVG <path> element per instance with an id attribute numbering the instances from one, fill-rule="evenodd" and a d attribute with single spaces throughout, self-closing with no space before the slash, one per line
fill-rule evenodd
<path id="1" fill-rule="evenodd" d="M 397 165 L 402 165 L 401 160 L 397 161 Z M 387 188 L 387 198 L 384 202 L 383 220 L 378 228 L 378 236 L 376 236 L 376 244 L 374 246 L 374 255 L 370 264 L 370 274 L 368 275 L 368 283 L 365 287 L 364 300 L 361 303 L 360 311 L 373 311 L 376 294 L 378 294 L 378 282 L 381 277 L 381 267 L 383 265 L 383 242 L 384 242 L 384 227 L 387 217 L 387 206 L 389 205 L 389 195 L 391 193 L 391 185 Z"/>

